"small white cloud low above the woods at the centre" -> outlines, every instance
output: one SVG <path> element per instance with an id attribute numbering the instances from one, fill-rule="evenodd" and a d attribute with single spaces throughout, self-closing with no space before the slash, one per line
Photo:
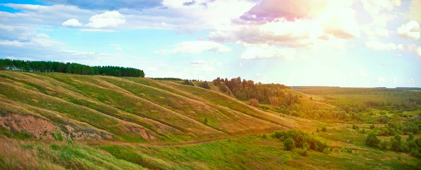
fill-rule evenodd
<path id="1" fill-rule="evenodd" d="M 280 48 L 270 45 L 252 45 L 241 54 L 241 59 L 293 59 L 296 51 L 292 48 Z"/>

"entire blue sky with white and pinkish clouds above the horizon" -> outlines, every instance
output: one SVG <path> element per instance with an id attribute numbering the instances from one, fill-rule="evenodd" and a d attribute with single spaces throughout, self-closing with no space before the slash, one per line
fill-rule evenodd
<path id="1" fill-rule="evenodd" d="M 0 58 L 421 87 L 421 0 L 1 0 Z"/>

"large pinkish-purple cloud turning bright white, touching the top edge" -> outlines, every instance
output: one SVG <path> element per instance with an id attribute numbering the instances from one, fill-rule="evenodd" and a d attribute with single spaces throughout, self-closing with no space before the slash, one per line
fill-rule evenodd
<path id="1" fill-rule="evenodd" d="M 282 4 L 282 5 L 280 5 Z M 360 37 L 355 11 L 350 3 L 333 0 L 262 0 L 240 18 L 247 21 L 284 22 L 307 20 L 306 28 L 339 38 Z M 296 27 L 299 28 L 299 27 Z"/>

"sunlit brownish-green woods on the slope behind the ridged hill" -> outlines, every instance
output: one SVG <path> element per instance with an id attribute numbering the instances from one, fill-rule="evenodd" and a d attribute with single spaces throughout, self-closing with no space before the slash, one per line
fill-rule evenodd
<path id="1" fill-rule="evenodd" d="M 227 92 L 228 89 L 239 100 L 257 99 L 259 102 L 269 103 L 272 96 L 283 96 L 282 89 L 290 88 L 281 84 L 262 84 L 254 83 L 253 80 L 241 80 L 240 77 L 228 80 L 227 78 L 216 78 L 213 85 L 220 87 L 221 91 Z"/>

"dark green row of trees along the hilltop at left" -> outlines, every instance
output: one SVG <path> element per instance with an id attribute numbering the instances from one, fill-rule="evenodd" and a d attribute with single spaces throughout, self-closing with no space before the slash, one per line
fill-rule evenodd
<path id="1" fill-rule="evenodd" d="M 145 77 L 145 73 L 137 68 L 115 66 L 87 66 L 78 63 L 62 63 L 55 61 L 23 61 L 0 59 L 0 70 L 19 70 L 29 72 L 62 72 L 82 75 L 109 75 L 118 77 Z"/>

